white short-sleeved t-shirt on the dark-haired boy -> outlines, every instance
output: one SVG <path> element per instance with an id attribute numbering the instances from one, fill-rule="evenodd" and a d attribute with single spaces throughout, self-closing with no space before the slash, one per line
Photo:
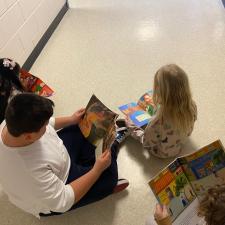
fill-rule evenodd
<path id="1" fill-rule="evenodd" d="M 45 134 L 25 147 L 8 147 L 0 126 L 0 183 L 9 200 L 36 217 L 39 213 L 65 212 L 75 201 L 72 187 L 65 184 L 70 157 L 50 119 Z"/>

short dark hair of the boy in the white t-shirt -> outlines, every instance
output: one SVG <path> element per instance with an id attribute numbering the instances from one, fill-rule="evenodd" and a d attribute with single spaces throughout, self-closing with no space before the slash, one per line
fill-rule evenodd
<path id="1" fill-rule="evenodd" d="M 21 107 L 23 106 L 23 107 Z M 14 137 L 38 132 L 53 115 L 54 103 L 38 95 L 18 95 L 6 109 L 7 129 Z"/>

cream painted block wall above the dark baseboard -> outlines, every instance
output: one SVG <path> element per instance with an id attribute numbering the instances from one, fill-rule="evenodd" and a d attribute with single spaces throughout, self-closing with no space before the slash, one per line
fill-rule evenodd
<path id="1" fill-rule="evenodd" d="M 0 58 L 22 65 L 66 0 L 0 0 Z"/>

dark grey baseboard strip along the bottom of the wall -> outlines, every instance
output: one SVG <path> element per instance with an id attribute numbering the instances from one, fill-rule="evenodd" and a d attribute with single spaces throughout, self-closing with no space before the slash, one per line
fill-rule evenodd
<path id="1" fill-rule="evenodd" d="M 46 32 L 43 34 L 37 45 L 35 46 L 34 50 L 31 52 L 31 54 L 28 56 L 27 60 L 23 64 L 22 68 L 29 71 L 31 67 L 33 66 L 34 62 L 36 61 L 37 57 L 41 53 L 42 49 L 48 42 L 49 38 L 52 36 L 53 32 L 59 25 L 60 21 L 66 14 L 67 10 L 69 9 L 68 4 L 65 3 L 65 5 L 62 7 L 56 18 L 52 21 Z"/>

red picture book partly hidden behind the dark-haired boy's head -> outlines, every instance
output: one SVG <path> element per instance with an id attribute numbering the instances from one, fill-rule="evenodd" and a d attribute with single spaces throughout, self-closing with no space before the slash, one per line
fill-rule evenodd
<path id="1" fill-rule="evenodd" d="M 25 90 L 28 92 L 33 92 L 44 97 L 50 97 L 54 93 L 40 78 L 23 69 L 20 70 L 19 79 Z"/>

